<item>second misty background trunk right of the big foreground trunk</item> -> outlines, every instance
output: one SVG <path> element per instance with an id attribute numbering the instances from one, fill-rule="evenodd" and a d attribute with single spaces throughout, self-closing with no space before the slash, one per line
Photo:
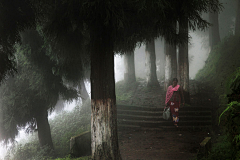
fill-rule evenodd
<path id="1" fill-rule="evenodd" d="M 147 86 L 159 86 L 156 72 L 156 53 L 154 39 L 146 44 Z"/>

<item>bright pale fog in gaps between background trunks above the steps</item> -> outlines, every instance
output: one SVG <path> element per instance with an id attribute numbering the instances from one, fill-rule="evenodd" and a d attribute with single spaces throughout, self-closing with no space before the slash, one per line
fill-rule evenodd
<path id="1" fill-rule="evenodd" d="M 190 32 L 190 41 L 189 41 L 189 77 L 194 79 L 196 73 L 203 68 L 205 61 L 209 55 L 208 39 L 205 36 L 199 36 L 194 32 Z M 157 74 L 158 79 L 160 77 L 160 66 L 161 61 L 164 61 L 164 45 L 163 41 L 159 38 L 155 40 L 155 52 L 156 52 L 156 65 L 157 65 Z M 135 74 L 138 78 L 145 79 L 146 69 L 145 69 L 145 45 L 137 47 L 134 52 L 135 56 Z M 123 56 L 115 56 L 115 81 L 121 81 L 124 79 L 124 61 Z"/>

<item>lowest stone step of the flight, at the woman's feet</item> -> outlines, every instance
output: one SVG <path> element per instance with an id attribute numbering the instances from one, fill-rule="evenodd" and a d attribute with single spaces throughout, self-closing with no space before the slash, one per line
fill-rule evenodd
<path id="1" fill-rule="evenodd" d="M 164 121 L 144 121 L 144 120 L 118 120 L 120 125 L 135 125 L 141 127 L 155 127 L 158 128 L 160 126 L 172 126 L 173 122 L 171 120 Z M 179 126 L 204 126 L 211 125 L 211 121 L 179 121 Z"/>

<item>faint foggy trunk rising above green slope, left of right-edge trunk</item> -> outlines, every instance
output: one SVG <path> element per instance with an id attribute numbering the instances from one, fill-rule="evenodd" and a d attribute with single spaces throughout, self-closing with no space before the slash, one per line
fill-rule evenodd
<path id="1" fill-rule="evenodd" d="M 209 21 L 212 24 L 209 29 L 209 42 L 211 49 L 217 45 L 221 39 L 220 39 L 220 33 L 219 33 L 219 23 L 218 23 L 218 12 L 211 13 L 209 12 Z"/>

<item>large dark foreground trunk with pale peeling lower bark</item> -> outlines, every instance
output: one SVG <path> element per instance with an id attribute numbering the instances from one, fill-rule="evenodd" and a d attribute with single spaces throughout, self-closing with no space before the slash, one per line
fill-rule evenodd
<path id="1" fill-rule="evenodd" d="M 94 29 L 91 43 L 92 158 L 120 160 L 111 28 L 99 25 Z"/>

